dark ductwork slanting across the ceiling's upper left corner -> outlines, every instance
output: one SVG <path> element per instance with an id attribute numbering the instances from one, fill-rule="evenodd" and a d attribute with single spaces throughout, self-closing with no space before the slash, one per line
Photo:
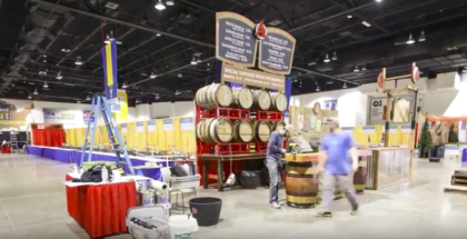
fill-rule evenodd
<path id="1" fill-rule="evenodd" d="M 51 9 L 47 6 L 37 4 L 30 9 L 29 19 L 23 27 L 21 36 L 22 46 L 19 48 L 20 54 L 13 59 L 10 72 L 7 73 L 11 78 L 21 78 L 21 69 L 26 68 L 28 61 L 32 61 L 31 52 L 40 52 L 39 44 L 50 38 L 50 28 L 57 20 L 63 16 L 63 12 Z M 0 86 L 0 92 L 3 92 L 10 86 L 11 79 L 6 78 Z"/>

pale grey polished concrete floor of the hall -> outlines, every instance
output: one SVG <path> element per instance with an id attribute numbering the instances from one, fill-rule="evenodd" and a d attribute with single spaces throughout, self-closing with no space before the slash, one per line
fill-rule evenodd
<path id="1" fill-rule="evenodd" d="M 269 208 L 266 189 L 201 190 L 199 196 L 222 198 L 223 221 L 193 238 L 467 238 L 467 195 L 443 191 L 454 167 L 417 160 L 413 181 L 359 196 L 357 217 L 345 200 L 336 201 L 334 218 L 318 219 L 319 208 Z M 0 239 L 88 238 L 67 213 L 62 180 L 70 170 L 32 156 L 0 155 Z"/>

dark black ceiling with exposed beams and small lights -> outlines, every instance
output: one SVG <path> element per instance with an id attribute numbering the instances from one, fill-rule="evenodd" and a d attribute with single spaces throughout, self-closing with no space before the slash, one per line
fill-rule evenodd
<path id="1" fill-rule="evenodd" d="M 408 73 L 414 61 L 428 77 L 467 66 L 465 0 L 175 0 L 165 10 L 158 0 L 0 2 L 1 98 L 86 102 L 103 90 L 100 49 L 113 36 L 130 103 L 191 100 L 218 81 L 218 11 L 296 37 L 294 94 L 375 82 L 382 67 Z"/>

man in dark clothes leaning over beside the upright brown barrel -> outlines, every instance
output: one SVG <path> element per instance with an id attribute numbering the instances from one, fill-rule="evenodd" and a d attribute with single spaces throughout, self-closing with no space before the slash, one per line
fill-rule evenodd
<path id="1" fill-rule="evenodd" d="M 269 136 L 268 151 L 266 153 L 266 167 L 269 172 L 269 203 L 275 209 L 280 209 L 279 188 L 280 188 L 280 158 L 286 150 L 282 148 L 284 137 L 290 137 L 292 127 L 287 125 L 284 129 L 276 130 Z"/>

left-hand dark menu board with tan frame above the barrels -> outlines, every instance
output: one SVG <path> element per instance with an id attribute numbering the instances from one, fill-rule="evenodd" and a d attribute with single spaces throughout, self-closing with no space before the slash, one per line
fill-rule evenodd
<path id="1" fill-rule="evenodd" d="M 241 67 L 255 67 L 255 23 L 234 12 L 216 13 L 216 58 Z"/>

